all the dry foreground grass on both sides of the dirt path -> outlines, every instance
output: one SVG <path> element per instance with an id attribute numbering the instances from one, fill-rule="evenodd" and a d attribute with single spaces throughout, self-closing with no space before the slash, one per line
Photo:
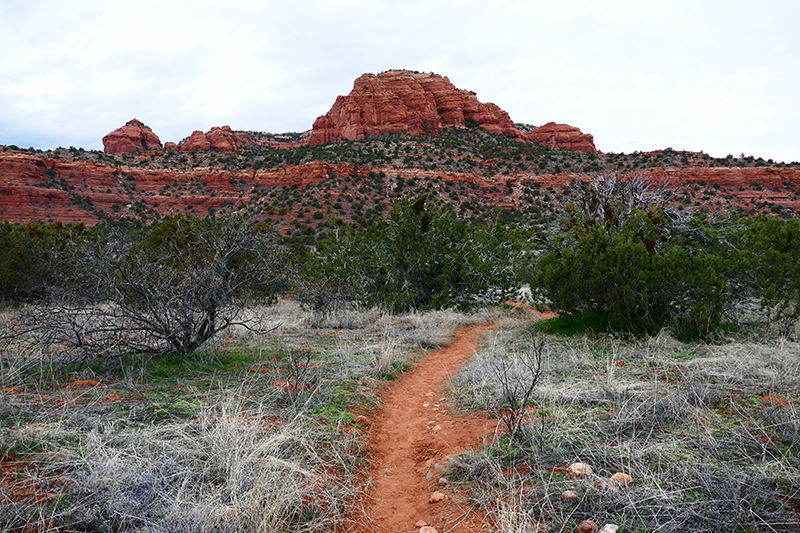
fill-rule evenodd
<path id="1" fill-rule="evenodd" d="M 186 358 L 79 364 L 4 345 L 0 530 L 333 531 L 364 472 L 355 416 L 456 327 L 502 316 L 254 312 L 281 327 Z M 530 349 L 530 324 L 500 322 L 451 384 L 467 408 L 502 409 L 496 362 Z M 521 437 L 452 458 L 451 487 L 499 531 L 797 531 L 799 355 L 769 336 L 549 335 Z M 576 461 L 593 474 L 570 476 Z"/>

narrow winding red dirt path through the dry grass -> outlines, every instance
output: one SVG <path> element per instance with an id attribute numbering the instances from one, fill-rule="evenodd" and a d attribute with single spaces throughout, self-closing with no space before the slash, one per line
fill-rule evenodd
<path id="1" fill-rule="evenodd" d="M 494 434 L 497 421 L 449 409 L 444 387 L 494 324 L 460 329 L 455 340 L 433 351 L 382 395 L 381 409 L 370 417 L 371 457 L 363 512 L 350 531 L 404 533 L 423 521 L 439 533 L 491 531 L 484 517 L 439 484 L 447 456 L 463 452 Z M 440 491 L 445 499 L 432 503 Z"/>

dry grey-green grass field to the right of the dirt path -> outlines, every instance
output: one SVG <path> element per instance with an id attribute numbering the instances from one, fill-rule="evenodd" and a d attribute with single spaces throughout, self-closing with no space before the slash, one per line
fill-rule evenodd
<path id="1" fill-rule="evenodd" d="M 473 357 L 454 382 L 463 404 L 498 406 L 495 362 L 523 354 L 528 329 L 501 330 Z M 585 519 L 625 532 L 797 531 L 798 356 L 781 339 L 549 337 L 523 436 L 455 458 L 449 473 L 504 531 Z M 569 475 L 573 462 L 593 474 Z M 633 482 L 611 482 L 616 472 Z"/>

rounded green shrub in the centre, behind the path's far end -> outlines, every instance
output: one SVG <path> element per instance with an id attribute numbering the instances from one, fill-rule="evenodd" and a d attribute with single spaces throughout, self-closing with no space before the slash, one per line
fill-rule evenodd
<path id="1" fill-rule="evenodd" d="M 513 287 L 511 240 L 501 225 L 470 226 L 452 207 L 403 199 L 363 234 L 342 231 L 306 264 L 309 278 L 346 286 L 361 304 L 396 312 L 468 308 Z"/>

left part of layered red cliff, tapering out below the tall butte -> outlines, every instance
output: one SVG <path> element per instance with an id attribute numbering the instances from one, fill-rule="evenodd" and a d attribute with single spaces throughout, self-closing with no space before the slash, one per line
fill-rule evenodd
<path id="1" fill-rule="evenodd" d="M 189 171 L 120 166 L 95 161 L 70 161 L 43 155 L 0 153 L 0 222 L 61 221 L 92 226 L 98 213 L 136 216 L 140 203 L 161 215 L 186 212 L 203 216 L 210 208 L 246 201 L 253 186 L 304 188 L 330 173 L 350 175 L 353 166 L 312 161 L 258 171 L 228 171 L 208 167 Z M 362 174 L 368 172 L 361 169 Z M 246 181 L 242 189 L 234 181 Z M 171 194 L 166 187 L 203 183 L 204 190 Z M 132 187 L 133 185 L 133 187 Z M 91 206 L 91 209 L 87 209 Z"/>

